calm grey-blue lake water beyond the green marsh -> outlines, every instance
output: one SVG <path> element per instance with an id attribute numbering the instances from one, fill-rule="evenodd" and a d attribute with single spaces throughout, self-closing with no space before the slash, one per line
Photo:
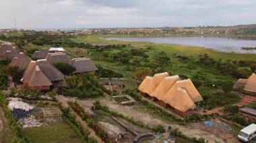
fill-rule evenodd
<path id="1" fill-rule="evenodd" d="M 152 42 L 163 44 L 179 44 L 199 46 L 224 52 L 256 53 L 256 50 L 242 50 L 243 47 L 256 47 L 256 40 L 241 40 L 234 38 L 204 38 L 204 37 L 164 37 L 164 38 L 107 38 L 108 40 L 123 40 L 130 42 Z"/>

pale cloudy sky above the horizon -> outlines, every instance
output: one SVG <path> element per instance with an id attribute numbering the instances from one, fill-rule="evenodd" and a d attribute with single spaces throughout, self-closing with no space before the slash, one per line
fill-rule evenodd
<path id="1" fill-rule="evenodd" d="M 235 26 L 256 0 L 0 0 L 0 29 Z M 15 20 L 14 20 L 15 19 Z"/>

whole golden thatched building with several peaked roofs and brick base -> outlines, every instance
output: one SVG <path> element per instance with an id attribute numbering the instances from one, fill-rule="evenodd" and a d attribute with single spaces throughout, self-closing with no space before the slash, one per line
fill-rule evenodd
<path id="1" fill-rule="evenodd" d="M 203 101 L 190 79 L 181 80 L 178 75 L 169 76 L 168 73 L 146 77 L 139 91 L 181 117 L 193 115 L 197 103 Z"/>

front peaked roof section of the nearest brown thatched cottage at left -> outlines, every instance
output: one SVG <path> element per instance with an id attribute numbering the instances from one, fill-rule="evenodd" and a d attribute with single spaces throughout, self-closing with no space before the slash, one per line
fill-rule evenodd
<path id="1" fill-rule="evenodd" d="M 53 83 L 42 73 L 39 66 L 35 66 L 28 82 L 29 87 L 51 86 Z"/>

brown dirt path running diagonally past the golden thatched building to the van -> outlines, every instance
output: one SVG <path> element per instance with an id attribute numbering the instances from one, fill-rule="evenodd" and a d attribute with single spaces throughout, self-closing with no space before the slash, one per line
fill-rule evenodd
<path id="1" fill-rule="evenodd" d="M 162 120 L 158 120 L 148 113 L 141 113 L 133 109 L 133 107 L 127 107 L 127 106 L 121 106 L 117 104 L 113 104 L 108 99 L 103 99 L 101 101 L 102 105 L 108 105 L 110 109 L 113 109 L 115 111 L 118 111 L 120 113 L 123 113 L 125 115 L 128 115 L 129 117 L 133 117 L 137 120 L 141 120 L 144 123 L 150 125 L 150 126 L 156 126 L 156 125 L 162 125 L 166 128 L 168 126 L 172 126 L 172 128 L 177 128 L 179 131 L 183 132 L 183 134 L 195 137 L 195 138 L 205 138 L 205 140 L 208 140 L 211 143 L 217 142 L 226 142 L 226 136 L 222 136 L 222 134 L 212 134 L 208 131 L 202 130 L 202 128 L 199 128 L 199 124 L 190 124 L 189 126 L 181 126 L 178 124 L 167 124 L 166 122 L 163 122 Z M 233 138 L 233 137 L 232 137 Z M 228 142 L 231 142 L 231 139 L 228 140 Z M 232 140 L 232 142 L 236 142 L 236 138 Z"/>

